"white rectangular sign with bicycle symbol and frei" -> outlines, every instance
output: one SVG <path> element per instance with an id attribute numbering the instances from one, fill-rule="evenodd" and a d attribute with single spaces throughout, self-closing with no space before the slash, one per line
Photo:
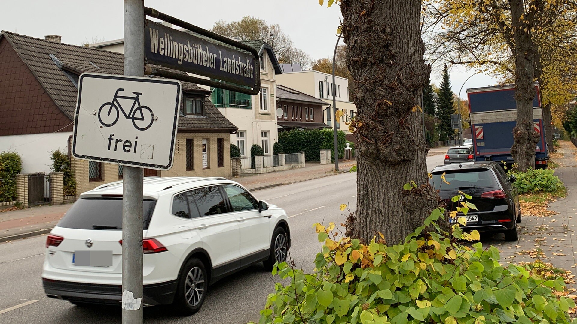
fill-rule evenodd
<path id="1" fill-rule="evenodd" d="M 73 156 L 170 169 L 180 101 L 181 84 L 175 80 L 81 74 Z"/>

